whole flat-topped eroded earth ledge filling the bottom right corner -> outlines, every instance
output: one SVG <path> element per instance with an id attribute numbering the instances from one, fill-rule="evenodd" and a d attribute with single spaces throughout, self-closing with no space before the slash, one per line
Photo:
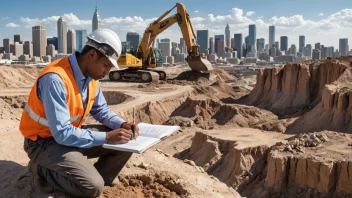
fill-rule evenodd
<path id="1" fill-rule="evenodd" d="M 323 131 L 283 138 L 246 130 L 197 132 L 181 159 L 245 197 L 352 195 L 351 135 Z"/>

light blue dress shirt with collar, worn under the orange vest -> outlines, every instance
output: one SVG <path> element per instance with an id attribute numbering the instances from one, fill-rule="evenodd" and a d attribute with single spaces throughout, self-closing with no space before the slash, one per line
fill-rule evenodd
<path id="1" fill-rule="evenodd" d="M 88 83 L 92 78 L 83 75 L 77 63 L 77 54 L 78 52 L 73 53 L 69 57 L 69 60 L 76 83 L 81 92 L 82 102 L 86 104 L 88 99 Z M 44 104 L 49 128 L 57 143 L 83 148 L 100 146 L 105 143 L 105 132 L 80 129 L 71 125 L 70 112 L 66 103 L 66 87 L 58 74 L 48 73 L 43 75 L 39 79 L 37 86 L 38 97 Z M 121 124 L 125 122 L 107 106 L 99 83 L 90 114 L 97 121 L 112 129 L 120 128 Z"/>

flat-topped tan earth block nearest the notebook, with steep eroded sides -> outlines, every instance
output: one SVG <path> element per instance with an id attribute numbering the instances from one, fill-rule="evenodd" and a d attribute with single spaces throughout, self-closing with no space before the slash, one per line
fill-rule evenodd
<path id="1" fill-rule="evenodd" d="M 270 140 L 261 143 L 262 135 L 263 132 L 255 129 L 220 130 L 213 134 L 197 132 L 192 146 L 181 154 L 181 158 L 194 161 L 208 174 L 241 192 L 262 174 L 269 148 L 277 141 L 284 141 L 275 133 L 266 133 L 269 137 L 264 139 Z M 224 136 L 231 136 L 233 140 L 223 138 Z M 244 137 L 252 139 L 254 143 L 237 141 Z"/>

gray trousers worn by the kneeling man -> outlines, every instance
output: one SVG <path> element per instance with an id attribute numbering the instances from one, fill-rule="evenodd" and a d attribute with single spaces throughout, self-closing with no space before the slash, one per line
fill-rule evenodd
<path id="1" fill-rule="evenodd" d="M 102 125 L 90 129 L 109 131 Z M 38 175 L 54 188 L 78 197 L 102 193 L 127 163 L 132 153 L 105 149 L 101 146 L 77 148 L 58 144 L 54 138 L 25 140 L 28 157 L 38 165 Z M 88 159 L 99 157 L 92 165 Z"/>

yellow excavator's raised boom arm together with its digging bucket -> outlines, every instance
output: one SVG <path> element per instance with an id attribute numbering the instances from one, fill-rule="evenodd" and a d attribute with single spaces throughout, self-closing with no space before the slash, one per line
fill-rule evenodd
<path id="1" fill-rule="evenodd" d="M 174 8 L 177 7 L 177 13 L 164 19 Z M 150 57 L 150 46 L 154 42 L 156 36 L 162 33 L 164 30 L 169 28 L 175 23 L 180 26 L 182 36 L 185 40 L 187 46 L 187 62 L 192 70 L 195 71 L 209 71 L 213 67 L 211 63 L 206 60 L 203 54 L 198 53 L 199 45 L 195 44 L 196 35 L 192 26 L 192 22 L 186 8 L 181 3 L 176 3 L 176 5 L 170 10 L 166 11 L 157 20 L 149 25 L 145 30 L 143 38 L 138 47 L 138 56 L 142 59 L 143 63 L 148 64 Z M 194 38 L 194 39 L 193 39 Z"/>

